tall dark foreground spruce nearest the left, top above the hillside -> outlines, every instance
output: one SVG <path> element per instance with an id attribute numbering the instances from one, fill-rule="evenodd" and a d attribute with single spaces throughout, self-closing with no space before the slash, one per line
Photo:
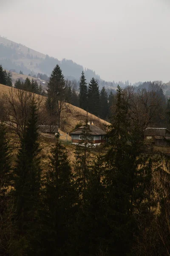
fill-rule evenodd
<path id="1" fill-rule="evenodd" d="M 34 254 L 33 244 L 37 239 L 37 210 L 40 200 L 41 178 L 37 120 L 37 102 L 33 99 L 30 107 L 30 118 L 21 139 L 21 147 L 17 154 L 17 163 L 14 169 L 15 223 L 17 229 L 17 247 L 14 244 L 14 250 L 20 255 L 26 255 L 28 252 Z"/>

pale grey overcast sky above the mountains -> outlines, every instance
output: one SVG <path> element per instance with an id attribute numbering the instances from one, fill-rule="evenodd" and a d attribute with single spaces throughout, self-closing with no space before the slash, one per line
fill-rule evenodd
<path id="1" fill-rule="evenodd" d="M 170 0 L 0 0 L 0 24 L 1 36 L 106 81 L 170 81 Z"/>

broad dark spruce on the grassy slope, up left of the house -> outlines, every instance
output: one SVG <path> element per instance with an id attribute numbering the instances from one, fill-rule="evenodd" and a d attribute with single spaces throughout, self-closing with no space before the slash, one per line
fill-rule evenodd
<path id="1" fill-rule="evenodd" d="M 65 79 L 59 65 L 54 68 L 51 73 L 47 85 L 47 100 L 46 107 L 49 115 L 57 119 L 57 124 L 60 126 L 61 112 L 65 102 Z M 56 123 L 54 123 L 56 125 Z"/>

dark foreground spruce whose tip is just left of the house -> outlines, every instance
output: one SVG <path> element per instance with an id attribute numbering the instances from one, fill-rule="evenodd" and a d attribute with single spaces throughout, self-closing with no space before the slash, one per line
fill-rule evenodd
<path id="1" fill-rule="evenodd" d="M 45 183 L 45 229 L 41 255 L 71 255 L 70 239 L 75 222 L 77 194 L 68 155 L 59 142 L 51 150 Z"/>

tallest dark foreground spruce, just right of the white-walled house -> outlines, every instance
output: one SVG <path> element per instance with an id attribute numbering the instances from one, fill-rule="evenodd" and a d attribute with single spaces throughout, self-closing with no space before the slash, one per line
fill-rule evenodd
<path id="1" fill-rule="evenodd" d="M 142 156 L 143 142 L 140 129 L 130 130 L 128 102 L 119 86 L 116 102 L 103 179 L 110 234 L 108 247 L 111 255 L 128 255 L 134 241 L 133 234 L 137 229 L 135 213 L 144 201 L 151 167 L 144 164 L 145 161 L 149 161 L 144 161 Z"/>

